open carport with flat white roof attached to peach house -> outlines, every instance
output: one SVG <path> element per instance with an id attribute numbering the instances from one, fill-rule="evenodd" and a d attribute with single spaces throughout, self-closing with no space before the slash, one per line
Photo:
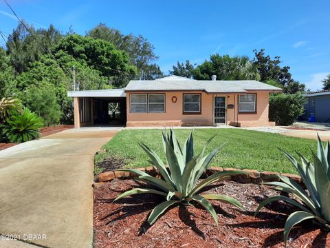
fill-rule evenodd
<path id="1" fill-rule="evenodd" d="M 74 127 L 126 123 L 124 89 L 70 91 L 67 96 L 74 97 Z"/>

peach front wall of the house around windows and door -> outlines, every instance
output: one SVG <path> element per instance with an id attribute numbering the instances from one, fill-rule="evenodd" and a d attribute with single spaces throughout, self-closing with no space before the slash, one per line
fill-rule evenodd
<path id="1" fill-rule="evenodd" d="M 154 92 L 165 93 L 165 113 L 131 113 L 130 94 L 146 94 L 151 92 L 126 92 L 127 126 L 148 125 L 213 125 L 213 97 L 225 96 L 226 105 L 234 104 L 234 109 L 227 110 L 227 125 L 269 125 L 268 121 L 268 96 L 269 92 L 248 92 L 256 94 L 256 113 L 240 114 L 238 112 L 238 94 L 206 94 L 200 91 L 190 92 Z M 201 114 L 183 114 L 183 94 L 201 94 Z M 177 97 L 177 102 L 172 102 L 172 97 Z M 271 124 L 272 125 L 272 124 Z"/>

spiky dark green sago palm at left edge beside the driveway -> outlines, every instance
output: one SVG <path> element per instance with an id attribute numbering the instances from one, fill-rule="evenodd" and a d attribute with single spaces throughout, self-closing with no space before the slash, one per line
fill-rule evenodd
<path id="1" fill-rule="evenodd" d="M 1 124 L 2 134 L 11 143 L 22 143 L 39 138 L 39 128 L 43 127 L 42 120 L 39 116 L 25 108 L 22 114 L 13 114 L 10 118 L 5 119 L 5 123 Z"/>

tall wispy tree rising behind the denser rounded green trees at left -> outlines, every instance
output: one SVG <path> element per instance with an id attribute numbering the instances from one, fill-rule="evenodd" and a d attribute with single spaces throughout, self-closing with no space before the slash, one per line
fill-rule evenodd
<path id="1" fill-rule="evenodd" d="M 137 76 L 144 74 L 153 61 L 159 57 L 155 55 L 155 47 L 148 42 L 142 35 L 133 34 L 124 35 L 120 30 L 109 28 L 106 24 L 100 23 L 87 32 L 88 37 L 109 41 L 115 48 L 125 51 L 129 55 L 131 65 L 137 68 Z"/>

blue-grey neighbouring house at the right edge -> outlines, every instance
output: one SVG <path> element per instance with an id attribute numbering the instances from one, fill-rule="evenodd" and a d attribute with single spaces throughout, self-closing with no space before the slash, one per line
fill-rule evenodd
<path id="1" fill-rule="evenodd" d="M 303 119 L 305 121 L 313 120 L 320 123 L 330 122 L 330 90 L 320 90 L 318 92 L 309 92 L 307 103 L 305 105 L 305 113 Z"/>

